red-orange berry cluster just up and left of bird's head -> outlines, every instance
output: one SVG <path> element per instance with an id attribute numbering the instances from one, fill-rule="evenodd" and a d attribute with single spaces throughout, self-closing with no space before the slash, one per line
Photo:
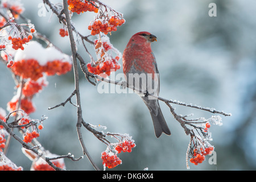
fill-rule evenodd
<path id="1" fill-rule="evenodd" d="M 112 16 L 108 22 L 105 22 L 105 20 L 103 22 L 101 22 L 101 20 L 91 22 L 88 26 L 88 30 L 91 30 L 90 34 L 92 35 L 100 34 L 100 32 L 107 35 L 109 32 L 117 31 L 117 27 L 121 26 L 123 23 L 125 23 L 125 19 L 119 19 Z"/>

